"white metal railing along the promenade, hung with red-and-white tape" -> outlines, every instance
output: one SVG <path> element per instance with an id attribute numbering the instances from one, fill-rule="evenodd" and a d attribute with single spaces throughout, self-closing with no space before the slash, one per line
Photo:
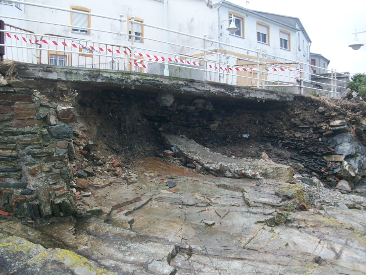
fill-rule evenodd
<path id="1" fill-rule="evenodd" d="M 169 70 L 171 76 L 215 81 L 230 85 L 242 85 L 273 91 L 291 91 L 305 94 L 316 92 L 330 97 L 339 97 L 340 89 L 346 86 L 349 75 L 317 67 L 303 60 L 292 60 L 260 51 L 195 36 L 176 30 L 154 26 L 135 20 L 129 20 L 131 34 L 124 31 L 126 20 L 123 15 L 111 17 L 91 12 L 67 8 L 52 7 L 17 0 L 0 1 L 0 4 L 24 4 L 39 9 L 51 9 L 60 12 L 75 12 L 116 22 L 114 28 L 96 29 L 83 27 L 88 32 L 108 34 L 112 41 L 98 42 L 81 38 L 63 36 L 64 33 L 36 34 L 21 28 L 6 25 L 0 34 L 5 37 L 5 58 L 29 63 L 42 63 L 59 66 L 86 67 L 97 69 L 127 70 L 131 72 L 162 74 L 161 69 Z M 61 24 L 51 21 L 39 21 L 37 18 L 14 18 L 0 15 L 1 19 L 17 19 L 32 22 L 37 26 L 59 26 L 78 28 L 80 26 Z M 107 22 L 108 22 L 107 21 Z M 128 23 L 129 23 L 128 22 Z M 114 23 L 115 24 L 115 23 Z M 103 25 L 103 24 L 100 24 Z M 145 34 L 135 33 L 135 26 L 145 28 Z M 149 30 L 153 30 L 150 32 Z M 167 41 L 169 33 L 177 39 Z M 147 35 L 146 35 L 147 34 Z M 161 38 L 160 38 L 161 37 Z M 159 39 L 160 38 L 160 39 Z M 117 41 L 118 40 L 118 41 Z M 141 41 L 150 41 L 141 43 Z M 181 43 L 173 41 L 184 41 Z M 146 46 L 145 46 L 146 45 Z M 150 46 L 149 46 L 150 45 Z M 168 47 L 171 48 L 169 51 Z M 228 53 L 224 48 L 235 49 L 231 52 L 246 52 L 245 57 Z M 179 53 L 173 51 L 179 49 Z M 251 56 L 251 57 L 248 57 Z M 329 74 L 312 73 L 312 68 L 322 69 Z M 339 79 L 340 77 L 345 79 Z"/>

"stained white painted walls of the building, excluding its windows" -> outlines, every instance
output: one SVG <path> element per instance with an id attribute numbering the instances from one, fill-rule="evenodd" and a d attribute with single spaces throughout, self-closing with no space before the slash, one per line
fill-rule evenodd
<path id="1" fill-rule="evenodd" d="M 145 23 L 150 25 L 156 25 L 163 27 L 164 20 L 164 3 L 162 1 L 156 0 L 105 0 L 103 2 L 100 1 L 78 1 L 75 4 L 74 0 L 27 0 L 28 2 L 44 4 L 49 6 L 56 6 L 61 8 L 70 8 L 70 6 L 82 6 L 91 10 L 92 13 L 108 15 L 111 17 L 119 18 L 120 14 L 124 14 L 125 18 L 135 16 L 144 20 Z M 256 49 L 264 49 L 266 53 L 276 56 L 281 56 L 283 58 L 301 60 L 304 59 L 305 62 L 309 62 L 310 58 L 310 48 L 308 48 L 307 55 L 304 57 L 304 51 L 298 51 L 299 46 L 297 40 L 296 30 L 291 29 L 290 27 L 286 27 L 279 23 L 275 23 L 270 20 L 265 20 L 262 17 L 253 15 L 251 13 L 246 13 L 245 10 L 236 8 L 233 6 L 222 6 L 221 1 L 215 1 L 216 5 L 213 5 L 212 8 L 206 6 L 204 0 L 168 0 L 168 28 L 177 30 L 179 32 L 190 33 L 195 36 L 199 36 L 203 38 L 203 34 L 207 34 L 207 37 L 212 40 L 219 40 L 224 43 L 229 43 L 232 45 L 236 45 L 243 48 L 252 49 L 254 52 L 250 50 L 242 50 L 237 49 L 235 47 L 223 46 L 217 43 L 208 42 L 208 49 L 221 49 L 229 52 L 236 52 L 238 54 L 244 54 L 249 56 L 256 56 Z M 1 7 L 4 6 L 4 7 Z M 6 7 L 5 5 L 0 5 L 0 17 L 1 14 L 8 14 L 8 8 L 15 7 Z M 99 32 L 96 30 L 92 30 L 91 34 L 83 34 L 83 33 L 75 33 L 71 32 L 71 28 L 68 26 L 62 26 L 62 24 L 70 25 L 70 12 L 65 11 L 57 11 L 57 10 L 48 10 L 45 8 L 38 8 L 32 6 L 25 6 L 24 8 L 25 14 L 23 13 L 23 17 L 29 19 L 38 19 L 41 21 L 50 21 L 59 23 L 61 26 L 49 25 L 49 24 L 41 24 L 35 22 L 26 22 L 26 21 L 12 21 L 14 25 L 22 26 L 26 29 L 32 30 L 35 33 L 39 34 L 57 34 L 67 37 L 72 37 L 77 43 L 83 45 L 92 45 L 94 47 L 102 47 L 106 48 L 106 45 L 98 45 L 96 43 L 90 44 L 90 41 L 100 41 L 106 44 L 124 44 L 130 46 L 131 41 L 129 41 L 128 35 L 120 36 L 119 34 L 109 34 L 105 32 Z M 225 30 L 229 23 L 228 21 L 222 21 L 224 19 L 228 19 L 228 12 L 236 12 L 244 17 L 244 32 L 245 37 L 235 37 L 233 35 L 229 35 L 228 31 Z M 19 11 L 12 10 L 13 14 L 17 16 L 16 12 Z M 18 17 L 21 17 L 18 15 Z M 7 20 L 5 20 L 6 22 Z M 257 21 L 261 21 L 270 25 L 269 28 L 269 45 L 259 43 L 257 41 Z M 122 32 L 127 34 L 127 25 L 128 22 L 124 22 L 122 26 Z M 119 21 L 113 21 L 111 19 L 97 18 L 91 17 L 91 27 L 96 29 L 104 29 L 110 30 L 114 32 L 120 32 L 121 26 Z M 290 51 L 286 49 L 280 48 L 280 29 L 285 29 L 291 33 L 291 45 Z M 300 33 L 300 41 L 302 39 L 306 39 L 302 32 Z M 152 29 L 150 27 L 145 26 L 145 41 L 139 42 L 135 41 L 135 52 L 147 53 L 147 54 L 155 54 L 155 55 L 164 55 L 155 51 L 164 51 L 164 44 L 157 41 L 149 40 L 148 38 L 153 38 L 157 40 L 164 40 L 164 31 Z M 47 38 L 48 39 L 48 38 Z M 197 49 L 189 49 L 183 46 L 177 45 L 169 45 L 168 52 L 171 54 L 170 57 L 173 57 L 173 52 L 186 54 L 186 55 L 194 55 L 194 54 L 202 54 L 203 53 L 203 41 L 201 39 L 186 37 L 175 33 L 169 33 L 168 39 L 170 42 L 174 42 L 181 45 L 190 45 L 191 47 Z M 52 39 L 51 39 L 52 40 Z M 62 40 L 67 43 L 71 42 L 71 39 Z M 305 45 L 308 45 L 307 40 L 305 40 Z M 111 46 L 108 46 L 111 48 Z M 42 45 L 42 48 L 49 48 L 54 51 L 58 50 L 71 50 L 71 48 L 64 48 L 55 45 Z M 75 48 L 72 48 L 72 51 L 75 51 Z M 116 64 L 112 65 L 112 58 L 99 58 L 99 57 L 83 57 L 79 56 L 78 49 L 76 49 L 77 54 L 69 54 L 69 59 L 71 65 L 82 66 L 88 65 L 90 63 L 104 63 L 105 68 L 115 68 Z M 235 54 L 234 54 L 235 55 Z M 212 56 L 211 56 L 212 57 Z M 214 60 L 218 62 L 225 62 L 228 64 L 236 64 L 236 57 L 229 56 L 217 56 L 212 57 Z M 268 57 L 267 57 L 268 58 Z M 279 62 L 284 62 L 279 58 L 270 58 L 273 60 L 279 60 Z M 309 61 L 308 61 L 309 60 Z M 48 55 L 46 53 L 42 53 L 41 55 L 42 63 L 48 63 Z M 111 63 L 112 62 L 112 63 Z M 122 67 L 121 67 L 122 66 Z M 119 65 L 118 69 L 127 69 L 126 66 Z M 270 69 L 270 68 L 269 68 Z M 310 71 L 310 68 L 309 68 Z M 284 74 L 283 76 L 274 76 L 269 75 L 268 80 L 284 80 L 287 76 Z M 291 78 L 291 75 L 287 76 Z M 236 77 L 231 77 L 232 84 L 236 84 Z M 226 77 L 222 78 L 223 81 L 227 81 L 229 83 L 229 79 Z"/>

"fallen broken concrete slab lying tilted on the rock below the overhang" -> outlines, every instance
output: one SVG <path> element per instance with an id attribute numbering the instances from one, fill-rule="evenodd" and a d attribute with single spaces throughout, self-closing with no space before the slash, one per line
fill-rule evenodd
<path id="1" fill-rule="evenodd" d="M 234 162 L 232 158 L 213 153 L 208 148 L 197 144 L 194 140 L 188 139 L 187 137 L 166 133 L 162 133 L 162 136 L 164 137 L 165 143 L 170 147 L 176 148 L 183 157 L 191 159 L 192 162 L 198 162 L 203 168 L 225 177 L 246 177 L 250 179 L 262 179 L 266 177 L 270 179 L 291 180 L 293 176 L 290 166 L 261 159 L 249 160 L 235 158 Z M 214 160 L 213 158 L 216 159 Z"/>

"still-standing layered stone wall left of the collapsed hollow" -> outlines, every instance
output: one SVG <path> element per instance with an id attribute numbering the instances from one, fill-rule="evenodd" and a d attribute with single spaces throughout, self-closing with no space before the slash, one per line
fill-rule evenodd
<path id="1" fill-rule="evenodd" d="M 69 192 L 73 128 L 62 123 L 74 118 L 34 85 L 0 83 L 0 209 L 38 220 L 75 212 Z"/>

